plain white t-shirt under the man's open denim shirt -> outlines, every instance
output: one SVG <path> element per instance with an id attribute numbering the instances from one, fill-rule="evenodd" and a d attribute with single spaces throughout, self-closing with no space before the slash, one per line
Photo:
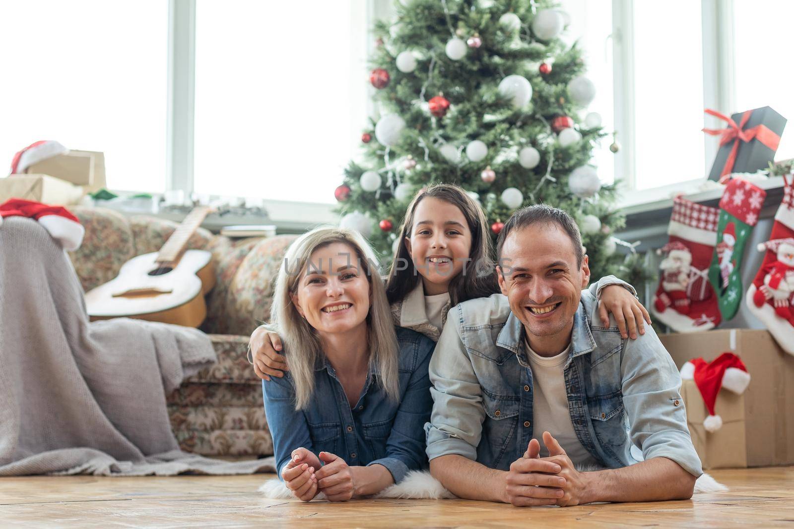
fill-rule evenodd
<path id="1" fill-rule="evenodd" d="M 568 361 L 570 345 L 559 355 L 545 357 L 526 346 L 526 358 L 532 368 L 532 436 L 541 443 L 541 457 L 549 456 L 543 443 L 543 432 L 548 431 L 571 458 L 574 465 L 600 466 L 590 452 L 582 446 L 573 431 L 571 413 L 568 409 L 568 392 L 565 391 L 565 362 Z"/>

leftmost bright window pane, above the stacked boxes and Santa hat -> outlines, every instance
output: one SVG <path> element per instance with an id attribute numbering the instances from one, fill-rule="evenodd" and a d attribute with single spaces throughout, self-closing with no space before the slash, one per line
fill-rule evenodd
<path id="1" fill-rule="evenodd" d="M 110 188 L 164 191 L 168 3 L 2 2 L 0 20 L 2 163 L 57 140 L 104 151 Z"/>

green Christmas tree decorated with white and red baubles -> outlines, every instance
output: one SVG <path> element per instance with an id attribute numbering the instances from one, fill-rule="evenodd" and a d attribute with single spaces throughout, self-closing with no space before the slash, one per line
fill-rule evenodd
<path id="1" fill-rule="evenodd" d="M 638 281 L 638 257 L 615 253 L 615 185 L 589 165 L 606 135 L 587 113 L 595 87 L 580 49 L 560 38 L 568 13 L 544 0 L 400 0 L 395 10 L 376 24 L 380 117 L 336 190 L 341 224 L 388 262 L 414 194 L 455 183 L 480 201 L 494 239 L 515 209 L 554 205 L 576 218 L 593 277 Z"/>

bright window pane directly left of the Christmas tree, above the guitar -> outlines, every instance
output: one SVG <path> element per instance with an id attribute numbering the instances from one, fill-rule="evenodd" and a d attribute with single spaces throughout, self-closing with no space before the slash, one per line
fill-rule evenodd
<path id="1" fill-rule="evenodd" d="M 366 124 L 366 7 L 197 3 L 195 192 L 333 201 Z"/>

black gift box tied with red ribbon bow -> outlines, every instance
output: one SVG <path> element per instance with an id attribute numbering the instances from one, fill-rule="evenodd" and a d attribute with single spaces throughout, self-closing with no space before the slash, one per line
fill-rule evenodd
<path id="1" fill-rule="evenodd" d="M 786 126 L 786 118 L 775 112 L 774 109 L 769 106 L 762 106 L 760 109 L 753 109 L 750 110 L 750 112 L 750 119 L 742 130 L 749 130 L 757 125 L 765 125 L 766 128 L 769 128 L 769 130 L 775 132 L 778 136 L 783 134 L 783 129 Z M 736 125 L 741 125 L 743 115 L 743 112 L 735 113 L 730 119 L 735 121 Z M 719 127 L 727 128 L 730 127 L 730 125 L 728 125 L 726 121 L 720 120 Z M 721 136 L 715 136 L 715 139 L 719 141 L 720 137 Z M 730 156 L 730 151 L 734 148 L 734 141 L 735 140 L 731 140 L 727 144 L 720 146 L 714 159 L 714 165 L 711 166 L 711 172 L 708 174 L 710 180 L 719 181 L 720 174 L 723 172 L 728 156 Z M 775 158 L 775 151 L 777 149 L 770 149 L 757 139 L 750 140 L 749 142 L 738 140 L 738 142 L 739 147 L 736 154 L 736 162 L 734 163 L 733 169 L 730 171 L 731 173 L 754 173 L 755 171 L 766 169 L 769 167 L 769 162 L 773 161 Z"/>

